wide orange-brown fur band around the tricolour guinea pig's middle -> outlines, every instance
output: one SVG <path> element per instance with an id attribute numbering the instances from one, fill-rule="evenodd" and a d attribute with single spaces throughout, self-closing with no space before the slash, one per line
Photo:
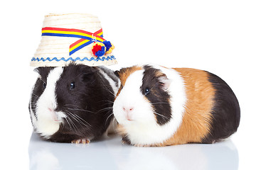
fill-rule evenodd
<path id="1" fill-rule="evenodd" d="M 210 132 L 215 89 L 208 81 L 208 74 L 198 69 L 176 68 L 181 74 L 186 86 L 186 111 L 183 114 L 181 126 L 173 137 L 166 140 L 165 145 L 178 145 L 189 142 L 200 143 Z"/>

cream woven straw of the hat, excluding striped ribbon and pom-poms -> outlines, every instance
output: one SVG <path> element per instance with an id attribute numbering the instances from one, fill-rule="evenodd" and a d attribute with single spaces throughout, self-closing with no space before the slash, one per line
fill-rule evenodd
<path id="1" fill-rule="evenodd" d="M 49 14 L 45 16 L 43 28 L 70 28 L 85 30 L 95 33 L 102 27 L 96 16 L 85 13 L 69 14 Z M 82 47 L 82 49 L 70 55 L 70 45 L 80 38 L 42 36 L 41 42 L 31 60 L 33 67 L 63 67 L 70 62 L 86 64 L 88 66 L 112 65 L 117 64 L 117 60 L 111 54 L 95 57 L 92 54 L 92 45 Z"/>

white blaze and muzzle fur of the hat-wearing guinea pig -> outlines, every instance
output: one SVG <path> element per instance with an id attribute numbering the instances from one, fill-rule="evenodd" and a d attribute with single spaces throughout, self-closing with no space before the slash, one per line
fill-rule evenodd
<path id="1" fill-rule="evenodd" d="M 62 73 L 62 67 L 56 67 L 50 71 L 47 77 L 46 89 L 36 103 L 37 120 L 31 112 L 32 122 L 36 132 L 40 133 L 46 139 L 59 130 L 60 123 L 66 117 L 65 113 L 55 112 L 55 108 L 57 108 L 55 86 Z M 30 110 L 32 111 L 31 108 Z"/>

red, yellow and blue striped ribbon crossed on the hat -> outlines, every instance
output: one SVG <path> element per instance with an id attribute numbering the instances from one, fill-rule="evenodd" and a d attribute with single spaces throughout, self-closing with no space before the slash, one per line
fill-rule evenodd
<path id="1" fill-rule="evenodd" d="M 81 48 L 90 45 L 92 42 L 105 41 L 105 39 L 103 38 L 102 28 L 100 30 L 97 30 L 95 33 L 90 33 L 85 30 L 78 29 L 45 27 L 42 28 L 42 36 L 80 38 L 80 40 L 70 45 L 69 55 L 73 55 L 74 52 L 77 52 Z"/>

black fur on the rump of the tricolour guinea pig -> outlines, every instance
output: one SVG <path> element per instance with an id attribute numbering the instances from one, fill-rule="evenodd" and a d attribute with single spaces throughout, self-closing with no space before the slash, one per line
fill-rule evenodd
<path id="1" fill-rule="evenodd" d="M 237 131 L 240 123 L 240 107 L 230 86 L 215 74 L 207 73 L 208 80 L 215 89 L 215 102 L 211 111 L 213 123 L 211 123 L 210 134 L 202 142 L 213 143 L 225 139 Z"/>

